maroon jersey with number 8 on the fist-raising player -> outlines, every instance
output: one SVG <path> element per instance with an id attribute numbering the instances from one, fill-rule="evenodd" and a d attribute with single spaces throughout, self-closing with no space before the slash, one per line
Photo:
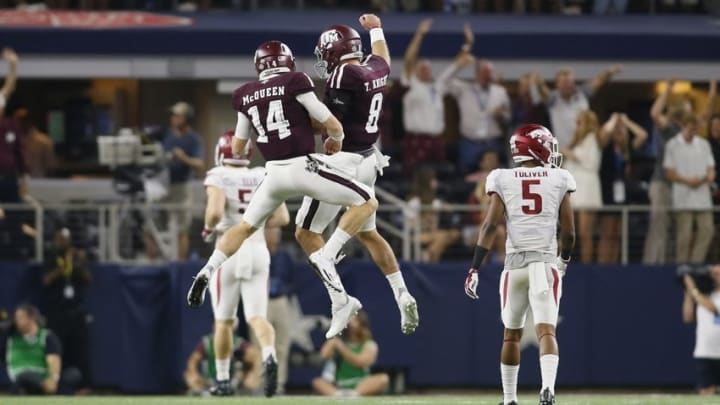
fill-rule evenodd
<path id="1" fill-rule="evenodd" d="M 388 74 L 385 59 L 370 55 L 359 65 L 338 66 L 328 78 L 325 104 L 343 125 L 344 151 L 365 150 L 377 141 Z"/>

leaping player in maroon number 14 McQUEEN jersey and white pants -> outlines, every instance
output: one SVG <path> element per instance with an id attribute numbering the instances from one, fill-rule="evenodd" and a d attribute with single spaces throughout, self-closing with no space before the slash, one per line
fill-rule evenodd
<path id="1" fill-rule="evenodd" d="M 377 209 L 373 190 L 338 170 L 335 155 L 313 153 L 315 138 L 311 118 L 327 131 L 325 150 L 342 148 L 343 127 L 318 100 L 310 78 L 295 72 L 295 58 L 280 41 L 261 44 L 255 52 L 258 80 L 240 86 L 233 93 L 237 126 L 232 150 L 241 153 L 257 133 L 255 144 L 265 157 L 267 174 L 255 190 L 242 221 L 228 229 L 219 240 L 207 264 L 198 272 L 188 304 L 199 307 L 205 299 L 208 282 L 229 256 L 238 251 L 265 220 L 285 200 L 304 195 L 349 207 L 327 246 L 310 254 L 309 260 L 323 280 L 332 302 L 332 321 L 328 338 L 338 335 L 350 318 L 362 308 L 345 292 L 335 270 L 335 257 L 352 235 Z"/>

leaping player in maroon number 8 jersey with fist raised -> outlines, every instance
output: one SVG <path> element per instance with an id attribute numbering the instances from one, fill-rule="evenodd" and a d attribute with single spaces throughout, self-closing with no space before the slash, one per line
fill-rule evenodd
<path id="1" fill-rule="evenodd" d="M 390 52 L 377 16 L 364 14 L 360 24 L 370 31 L 372 54 L 363 58 L 362 40 L 353 28 L 333 25 L 320 35 L 315 48 L 318 57 L 315 66 L 320 77 L 327 79 L 325 104 L 340 120 L 347 136 L 335 163 L 374 189 L 377 175 L 382 173 L 388 160 L 374 144 L 380 134 L 378 123 L 390 74 Z M 340 205 L 311 196 L 304 198 L 295 219 L 295 238 L 306 253 L 323 249 L 325 241 L 321 234 L 341 209 Z M 392 288 L 400 308 L 402 332 L 414 332 L 419 323 L 417 303 L 405 285 L 392 248 L 376 229 L 374 213 L 356 236 Z"/>

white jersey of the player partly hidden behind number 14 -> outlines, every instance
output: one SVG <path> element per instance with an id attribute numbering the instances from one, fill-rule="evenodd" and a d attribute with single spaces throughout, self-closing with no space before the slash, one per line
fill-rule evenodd
<path id="1" fill-rule="evenodd" d="M 218 166 L 207 172 L 203 184 L 218 187 L 225 193 L 225 213 L 215 229 L 225 232 L 242 221 L 242 214 L 263 178 L 264 167 Z M 265 240 L 265 232 L 255 232 L 250 239 Z"/>

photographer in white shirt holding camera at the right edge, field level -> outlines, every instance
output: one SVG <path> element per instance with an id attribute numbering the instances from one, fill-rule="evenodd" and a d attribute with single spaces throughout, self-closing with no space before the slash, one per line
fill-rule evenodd
<path id="1" fill-rule="evenodd" d="M 720 265 L 707 268 L 710 283 L 705 288 L 696 278 L 701 272 L 685 273 L 685 298 L 683 300 L 683 321 L 696 322 L 695 351 L 697 361 L 698 393 L 713 395 L 720 387 Z"/>

